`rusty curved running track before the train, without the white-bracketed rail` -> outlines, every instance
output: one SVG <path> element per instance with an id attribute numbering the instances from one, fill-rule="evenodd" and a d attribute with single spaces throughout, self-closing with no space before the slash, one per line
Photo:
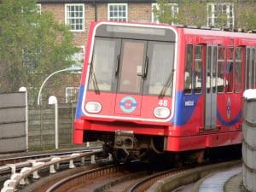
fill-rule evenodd
<path id="1" fill-rule="evenodd" d="M 224 168 L 237 166 L 240 162 L 230 161 L 207 166 L 187 168 L 172 168 L 165 172 L 148 170 L 141 163 L 109 165 L 109 166 L 84 166 L 77 170 L 63 173 L 58 180 L 46 178 L 40 187 L 33 186 L 30 190 L 37 192 L 156 192 L 172 191 L 181 185 L 194 183 L 210 172 L 223 170 Z M 133 167 L 131 169 L 131 167 Z M 135 168 L 137 167 L 137 168 Z M 167 180 L 165 180 L 167 178 Z M 164 181 L 165 180 L 165 181 Z M 53 182 L 49 182 L 53 181 Z M 36 184 L 36 183 L 35 183 Z M 164 185 L 167 185 L 164 186 Z M 168 189 L 168 190 L 164 190 Z"/>

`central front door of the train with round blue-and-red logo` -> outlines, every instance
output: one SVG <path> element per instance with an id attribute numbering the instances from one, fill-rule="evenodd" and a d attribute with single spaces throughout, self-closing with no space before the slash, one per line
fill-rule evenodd
<path id="1" fill-rule="evenodd" d="M 147 42 L 122 39 L 115 113 L 140 115 Z"/>

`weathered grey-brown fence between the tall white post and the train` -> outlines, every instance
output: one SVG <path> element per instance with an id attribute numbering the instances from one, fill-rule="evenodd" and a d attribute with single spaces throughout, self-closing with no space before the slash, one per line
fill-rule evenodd
<path id="1" fill-rule="evenodd" d="M 59 106 L 59 148 L 73 147 L 75 105 Z M 28 150 L 55 148 L 55 109 L 53 106 L 29 107 Z"/>

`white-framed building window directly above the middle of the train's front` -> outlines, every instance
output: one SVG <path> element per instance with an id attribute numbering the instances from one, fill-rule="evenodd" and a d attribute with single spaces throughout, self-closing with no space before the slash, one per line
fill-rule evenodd
<path id="1" fill-rule="evenodd" d="M 127 21 L 127 3 L 109 3 L 108 20 Z"/>

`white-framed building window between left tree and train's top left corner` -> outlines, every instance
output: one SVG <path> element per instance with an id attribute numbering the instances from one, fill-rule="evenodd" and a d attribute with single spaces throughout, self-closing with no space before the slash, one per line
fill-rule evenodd
<path id="1" fill-rule="evenodd" d="M 65 4 L 65 16 L 71 31 L 84 31 L 84 4 Z"/>

